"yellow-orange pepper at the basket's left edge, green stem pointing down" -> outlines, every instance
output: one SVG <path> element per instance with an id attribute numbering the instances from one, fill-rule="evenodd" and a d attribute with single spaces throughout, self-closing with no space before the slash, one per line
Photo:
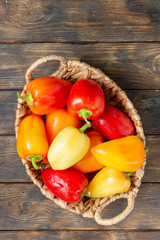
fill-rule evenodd
<path id="1" fill-rule="evenodd" d="M 33 167 L 38 170 L 36 162 L 45 159 L 48 152 L 41 116 L 31 114 L 21 121 L 17 134 L 17 152 L 20 158 L 31 161 Z"/>

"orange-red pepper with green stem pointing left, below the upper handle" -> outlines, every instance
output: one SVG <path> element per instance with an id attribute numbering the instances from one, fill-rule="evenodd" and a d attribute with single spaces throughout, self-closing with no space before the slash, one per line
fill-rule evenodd
<path id="1" fill-rule="evenodd" d="M 31 81 L 26 89 L 26 96 L 17 96 L 26 100 L 30 110 L 38 115 L 45 115 L 54 108 L 66 106 L 72 83 L 56 77 L 43 77 Z"/>

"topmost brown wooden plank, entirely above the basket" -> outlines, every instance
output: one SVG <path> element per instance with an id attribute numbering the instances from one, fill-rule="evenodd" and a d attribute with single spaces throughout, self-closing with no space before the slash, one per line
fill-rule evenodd
<path id="1" fill-rule="evenodd" d="M 1 1 L 3 42 L 159 41 L 159 0 Z"/>

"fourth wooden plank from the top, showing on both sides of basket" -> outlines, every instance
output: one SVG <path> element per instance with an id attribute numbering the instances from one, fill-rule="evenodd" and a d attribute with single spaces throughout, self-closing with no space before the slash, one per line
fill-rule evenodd
<path id="1" fill-rule="evenodd" d="M 160 182 L 160 136 L 147 136 L 147 165 L 143 182 Z M 31 182 L 16 152 L 14 136 L 0 136 L 0 182 Z"/>

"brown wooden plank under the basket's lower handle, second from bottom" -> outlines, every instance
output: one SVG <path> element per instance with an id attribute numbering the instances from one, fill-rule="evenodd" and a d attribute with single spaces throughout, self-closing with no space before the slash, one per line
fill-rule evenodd
<path id="1" fill-rule="evenodd" d="M 0 184 L 0 230 L 160 230 L 160 184 L 142 184 L 132 213 L 117 225 L 100 226 L 93 219 L 61 209 L 31 184 Z M 117 200 L 102 212 L 113 217 L 125 208 Z"/>

